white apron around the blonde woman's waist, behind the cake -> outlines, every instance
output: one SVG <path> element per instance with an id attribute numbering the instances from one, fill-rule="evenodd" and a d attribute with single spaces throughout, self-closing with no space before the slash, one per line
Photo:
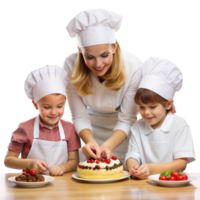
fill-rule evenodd
<path id="1" fill-rule="evenodd" d="M 112 113 L 99 113 L 88 107 L 88 112 L 92 125 L 93 137 L 100 146 L 111 136 L 118 121 L 119 110 Z M 129 138 L 127 138 L 122 144 L 112 151 L 112 154 L 122 162 L 124 162 L 126 153 L 128 151 L 128 141 Z M 79 160 L 87 160 L 81 149 L 79 149 Z"/>

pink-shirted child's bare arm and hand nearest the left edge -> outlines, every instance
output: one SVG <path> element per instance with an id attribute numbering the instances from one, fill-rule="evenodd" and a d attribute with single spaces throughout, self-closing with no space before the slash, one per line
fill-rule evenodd
<path id="1" fill-rule="evenodd" d="M 46 162 L 38 159 L 23 159 L 20 154 L 7 150 L 3 164 L 6 168 L 22 170 L 26 167 L 35 169 L 38 173 L 44 173 L 49 167 Z"/>

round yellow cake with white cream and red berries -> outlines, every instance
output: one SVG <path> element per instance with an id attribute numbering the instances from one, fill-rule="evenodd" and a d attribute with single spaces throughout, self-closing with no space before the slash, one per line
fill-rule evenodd
<path id="1" fill-rule="evenodd" d="M 111 159 L 93 158 L 80 162 L 77 166 L 78 177 L 85 179 L 111 179 L 124 176 L 123 163 L 112 156 Z"/>

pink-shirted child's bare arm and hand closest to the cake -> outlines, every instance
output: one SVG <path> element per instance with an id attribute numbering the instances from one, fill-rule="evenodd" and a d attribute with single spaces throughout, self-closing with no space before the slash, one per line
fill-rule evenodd
<path id="1" fill-rule="evenodd" d="M 68 161 L 62 165 L 59 165 L 59 167 L 63 169 L 64 173 L 72 172 L 77 169 L 78 162 L 79 162 L 78 149 L 76 149 L 74 151 L 68 152 Z"/>

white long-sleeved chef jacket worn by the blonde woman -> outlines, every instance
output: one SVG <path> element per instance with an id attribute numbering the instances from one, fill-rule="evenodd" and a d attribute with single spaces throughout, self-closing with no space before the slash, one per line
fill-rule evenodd
<path id="1" fill-rule="evenodd" d="M 92 125 L 94 125 L 112 129 L 112 131 L 120 129 L 129 135 L 131 126 L 137 120 L 138 106 L 134 102 L 134 95 L 141 80 L 143 62 L 132 52 L 121 50 L 126 79 L 125 85 L 119 91 L 115 92 L 106 88 L 106 81 L 100 83 L 98 77 L 93 73 L 91 90 L 95 95 L 81 97 L 71 83 L 67 86 L 68 105 L 72 114 L 72 122 L 78 134 L 82 129 L 92 131 Z M 64 58 L 63 68 L 67 71 L 69 80 L 71 80 L 77 53 L 78 51 Z M 95 116 L 99 116 L 92 123 L 86 106 L 93 110 Z M 115 114 L 118 116 L 116 119 L 113 117 Z"/>

